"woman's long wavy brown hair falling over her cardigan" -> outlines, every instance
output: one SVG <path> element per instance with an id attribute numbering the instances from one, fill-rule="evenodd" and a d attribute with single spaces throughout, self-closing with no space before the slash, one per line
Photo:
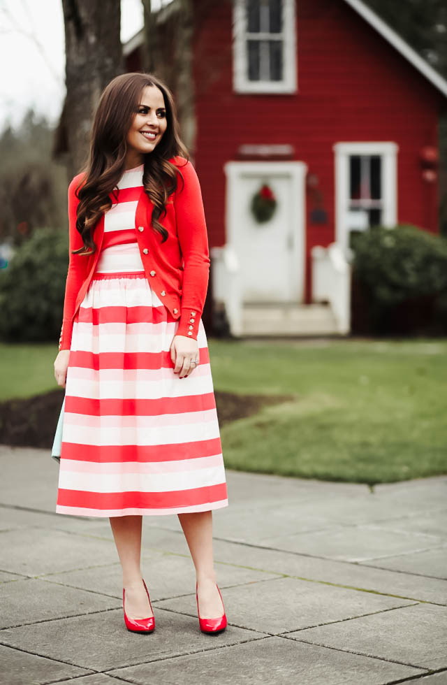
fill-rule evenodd
<path id="1" fill-rule="evenodd" d="M 177 188 L 177 167 L 168 159 L 177 154 L 189 159 L 189 154 L 179 136 L 175 103 L 168 86 L 152 73 L 124 73 L 105 87 L 94 114 L 89 156 L 82 169 L 84 176 L 75 191 L 79 199 L 76 229 L 84 246 L 73 250 L 73 254 L 96 251 L 94 227 L 103 212 L 112 207 L 109 194 L 116 197 L 115 188 L 126 166 L 126 136 L 146 86 L 156 86 L 163 93 L 167 126 L 158 145 L 145 154 L 142 185 L 154 204 L 152 228 L 163 236 L 161 242 L 168 238 L 168 231 L 159 222 L 160 217 L 166 216 L 166 200 Z"/>

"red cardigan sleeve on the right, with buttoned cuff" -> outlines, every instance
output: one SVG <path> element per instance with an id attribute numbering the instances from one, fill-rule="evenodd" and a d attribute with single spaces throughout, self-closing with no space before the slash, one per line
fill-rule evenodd
<path id="1" fill-rule="evenodd" d="M 196 169 L 187 161 L 179 166 L 184 178 L 177 179 L 175 218 L 184 260 L 182 299 L 177 336 L 197 340 L 198 324 L 205 305 L 210 277 L 210 253 L 202 192 Z"/>

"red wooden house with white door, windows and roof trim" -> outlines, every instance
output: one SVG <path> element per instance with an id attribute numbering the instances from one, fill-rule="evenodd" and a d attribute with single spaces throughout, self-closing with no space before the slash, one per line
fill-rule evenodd
<path id="1" fill-rule="evenodd" d="M 348 333 L 351 232 L 438 231 L 447 82 L 360 0 L 193 10 L 214 321 L 224 312 L 235 336 Z M 142 31 L 124 45 L 129 71 L 141 45 Z"/>

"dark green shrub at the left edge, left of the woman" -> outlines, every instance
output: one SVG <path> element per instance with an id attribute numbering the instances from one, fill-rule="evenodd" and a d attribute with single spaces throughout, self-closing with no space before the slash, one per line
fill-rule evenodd
<path id="1" fill-rule="evenodd" d="M 68 269 L 68 232 L 36 229 L 0 272 L 0 337 L 59 340 Z"/>

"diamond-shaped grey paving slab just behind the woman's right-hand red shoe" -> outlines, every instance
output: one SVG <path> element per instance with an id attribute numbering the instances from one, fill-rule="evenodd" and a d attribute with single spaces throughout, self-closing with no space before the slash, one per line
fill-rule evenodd
<path id="1" fill-rule="evenodd" d="M 265 633 L 345 621 L 353 616 L 411 604 L 411 601 L 293 578 L 230 587 L 222 591 L 222 598 L 229 623 Z M 165 600 L 157 606 L 195 616 L 196 594 Z"/>

